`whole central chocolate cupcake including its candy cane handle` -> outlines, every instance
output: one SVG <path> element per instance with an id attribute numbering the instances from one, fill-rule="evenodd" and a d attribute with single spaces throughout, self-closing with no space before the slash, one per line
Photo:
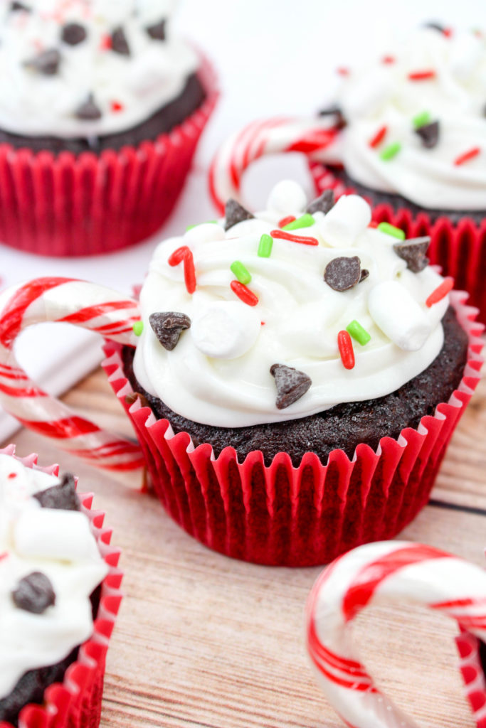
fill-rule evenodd
<path id="1" fill-rule="evenodd" d="M 283 181 L 262 212 L 230 200 L 158 246 L 138 304 L 66 279 L 5 291 L 1 402 L 101 467 L 143 454 L 162 505 L 215 550 L 325 563 L 426 504 L 479 378 L 482 328 L 428 242 L 375 226 L 357 195 L 308 202 Z M 13 344 L 43 320 L 114 340 L 104 367 L 141 450 L 27 379 Z"/>

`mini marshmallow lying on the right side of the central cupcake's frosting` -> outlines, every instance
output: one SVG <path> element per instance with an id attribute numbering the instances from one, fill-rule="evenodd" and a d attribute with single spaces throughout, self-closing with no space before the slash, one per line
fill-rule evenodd
<path id="1" fill-rule="evenodd" d="M 418 351 L 431 333 L 426 313 L 397 281 L 375 285 L 369 293 L 368 309 L 376 325 L 404 351 Z"/>

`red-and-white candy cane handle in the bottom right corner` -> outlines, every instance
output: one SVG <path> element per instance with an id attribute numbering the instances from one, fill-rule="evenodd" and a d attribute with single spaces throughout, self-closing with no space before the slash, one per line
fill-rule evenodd
<path id="1" fill-rule="evenodd" d="M 486 641 L 486 571 L 430 546 L 384 541 L 353 549 L 321 574 L 307 602 L 307 648 L 319 684 L 351 728 L 418 728 L 378 689 L 350 625 L 368 604 L 406 602 L 446 614 L 478 728 L 486 728 L 486 681 L 477 638 Z"/>

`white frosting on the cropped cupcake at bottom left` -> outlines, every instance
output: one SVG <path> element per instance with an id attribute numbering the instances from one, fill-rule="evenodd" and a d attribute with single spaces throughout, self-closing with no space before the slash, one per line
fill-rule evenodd
<path id="1" fill-rule="evenodd" d="M 32 497 L 57 483 L 0 455 L 0 699 L 27 670 L 60 662 L 93 633 L 90 594 L 108 568 L 84 513 L 41 508 Z M 55 592 L 55 604 L 42 614 L 12 600 L 19 580 L 33 571 L 42 571 Z"/>

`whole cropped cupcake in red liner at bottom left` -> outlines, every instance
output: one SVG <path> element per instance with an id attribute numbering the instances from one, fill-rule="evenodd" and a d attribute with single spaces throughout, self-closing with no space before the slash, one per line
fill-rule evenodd
<path id="1" fill-rule="evenodd" d="M 118 554 L 73 476 L 14 449 L 0 451 L 0 723 L 95 727 Z"/>

